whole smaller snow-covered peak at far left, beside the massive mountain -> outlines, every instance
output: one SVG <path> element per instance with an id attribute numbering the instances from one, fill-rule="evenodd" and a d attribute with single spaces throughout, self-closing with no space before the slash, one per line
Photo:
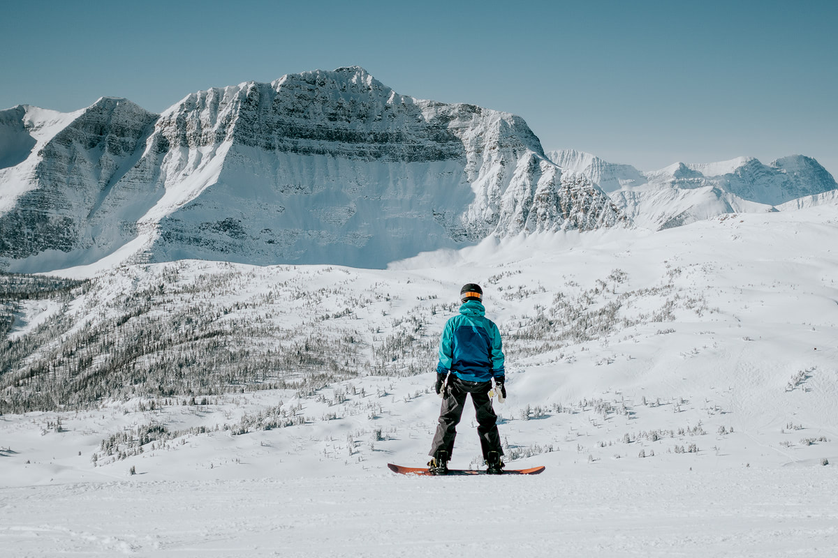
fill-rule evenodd
<path id="1" fill-rule="evenodd" d="M 123 177 L 137 166 L 155 120 L 157 115 L 111 98 L 70 114 L 29 106 L 0 112 L 0 137 L 12 153 L 0 169 L 0 254 L 6 262 L 81 252 L 97 259 L 115 237 L 134 234 L 132 222 L 145 204 L 127 195 Z"/>

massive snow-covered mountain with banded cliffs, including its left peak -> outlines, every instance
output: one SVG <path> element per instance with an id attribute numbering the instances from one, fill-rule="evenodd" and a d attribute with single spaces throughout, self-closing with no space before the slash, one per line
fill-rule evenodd
<path id="1" fill-rule="evenodd" d="M 0 112 L 0 268 L 150 261 L 383 267 L 489 235 L 625 221 L 515 115 L 417 100 L 359 67 L 189 95 Z"/>

